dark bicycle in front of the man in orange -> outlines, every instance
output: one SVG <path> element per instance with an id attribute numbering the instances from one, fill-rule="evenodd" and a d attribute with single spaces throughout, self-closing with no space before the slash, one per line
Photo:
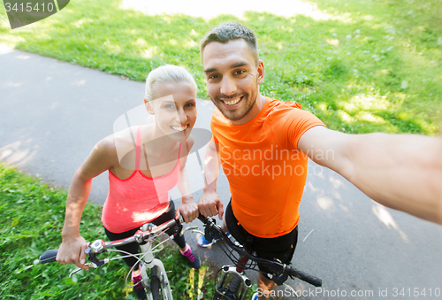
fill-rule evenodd
<path id="1" fill-rule="evenodd" d="M 304 273 L 278 261 L 256 258 L 239 242 L 232 242 L 232 240 L 225 235 L 221 227 L 216 224 L 215 219 L 206 218 L 202 215 L 200 215 L 198 219 L 203 223 L 204 232 L 198 230 L 194 230 L 194 232 L 199 232 L 204 235 L 210 242 L 216 239 L 217 244 L 220 245 L 221 249 L 233 263 L 233 265 L 224 265 L 218 270 L 215 280 L 216 292 L 212 298 L 213 300 L 244 300 L 247 296 L 248 289 L 252 287 L 252 283 L 248 279 L 245 270 L 261 272 L 257 269 L 258 263 L 268 266 L 272 273 L 267 273 L 266 275 L 278 285 L 282 285 L 290 276 L 292 279 L 298 278 L 301 281 L 309 282 L 315 287 L 322 286 L 322 281 L 319 278 L 309 275 L 308 273 Z M 237 257 L 234 252 L 238 255 Z M 220 280 L 217 281 L 218 273 L 221 271 L 223 273 Z M 230 280 L 228 277 L 230 277 Z"/>

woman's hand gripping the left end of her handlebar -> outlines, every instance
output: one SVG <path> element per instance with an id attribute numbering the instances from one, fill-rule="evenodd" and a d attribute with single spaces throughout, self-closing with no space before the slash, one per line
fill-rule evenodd
<path id="1" fill-rule="evenodd" d="M 88 243 L 80 235 L 76 238 L 64 238 L 57 252 L 57 262 L 62 265 L 77 265 L 83 270 L 88 270 L 88 265 L 85 265 L 87 248 Z"/>

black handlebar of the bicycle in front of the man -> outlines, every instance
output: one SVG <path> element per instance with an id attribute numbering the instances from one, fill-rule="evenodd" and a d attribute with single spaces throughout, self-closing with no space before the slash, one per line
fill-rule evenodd
<path id="1" fill-rule="evenodd" d="M 315 287 L 322 286 L 323 281 L 321 279 L 312 276 L 308 273 L 304 273 L 289 265 L 279 263 L 278 261 L 271 261 L 264 258 L 256 258 L 254 255 L 248 253 L 248 251 L 244 250 L 244 247 L 242 245 L 240 244 L 236 245 L 235 243 L 233 243 L 229 239 L 229 237 L 225 235 L 225 233 L 221 230 L 221 227 L 216 225 L 213 219 L 204 217 L 201 214 L 200 216 L 198 216 L 198 219 L 200 219 L 204 224 L 206 239 L 209 238 L 208 240 L 210 240 L 212 238 L 215 238 L 217 240 L 223 240 L 227 244 L 227 246 L 230 247 L 232 250 L 235 250 L 240 255 L 240 257 L 248 258 L 259 264 L 268 265 L 271 271 L 275 273 L 275 275 L 271 278 L 271 280 L 277 283 L 278 285 L 284 283 L 287 280 L 287 277 L 291 276 L 291 277 L 296 277 L 301 281 L 309 282 Z"/>

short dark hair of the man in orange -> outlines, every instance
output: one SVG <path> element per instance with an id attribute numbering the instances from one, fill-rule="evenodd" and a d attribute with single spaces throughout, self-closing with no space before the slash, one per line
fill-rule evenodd
<path id="1" fill-rule="evenodd" d="M 255 33 L 248 27 L 237 22 L 226 22 L 217 25 L 210 29 L 210 31 L 204 36 L 201 42 L 201 55 L 202 51 L 210 42 L 222 42 L 226 43 L 232 40 L 243 39 L 248 43 L 248 48 L 252 55 L 255 57 L 256 64 L 258 63 L 258 42 L 256 42 Z"/>

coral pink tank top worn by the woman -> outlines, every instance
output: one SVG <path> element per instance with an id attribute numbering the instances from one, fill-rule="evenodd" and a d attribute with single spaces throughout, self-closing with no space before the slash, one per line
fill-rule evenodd
<path id="1" fill-rule="evenodd" d="M 141 173 L 141 127 L 137 128 L 135 170 L 127 179 L 119 179 L 109 170 L 109 192 L 103 205 L 102 222 L 113 233 L 122 233 L 149 223 L 169 207 L 169 190 L 179 178 L 178 163 L 171 173 L 150 178 Z"/>

